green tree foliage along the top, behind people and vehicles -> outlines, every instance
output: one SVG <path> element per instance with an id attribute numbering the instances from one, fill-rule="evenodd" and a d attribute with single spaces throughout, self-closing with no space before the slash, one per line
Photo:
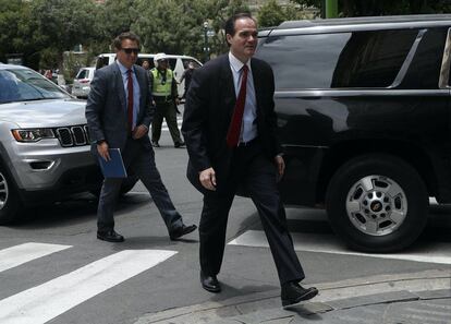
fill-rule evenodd
<path id="1" fill-rule="evenodd" d="M 141 36 L 143 50 L 204 57 L 208 23 L 210 53 L 227 51 L 226 20 L 248 11 L 244 0 L 0 0 L 0 61 L 20 53 L 32 68 L 61 67 L 63 52 L 83 44 L 92 57 L 111 51 L 111 40 L 122 32 Z M 301 19 L 301 7 L 321 8 L 324 0 L 292 0 L 280 7 L 266 1 L 259 26 Z M 341 16 L 450 12 L 449 0 L 339 0 Z"/>

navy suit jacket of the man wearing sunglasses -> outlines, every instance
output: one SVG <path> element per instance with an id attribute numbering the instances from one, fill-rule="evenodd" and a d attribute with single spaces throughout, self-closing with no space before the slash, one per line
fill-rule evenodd
<path id="1" fill-rule="evenodd" d="M 155 107 L 151 106 L 149 76 L 146 70 L 134 65 L 139 84 L 141 99 L 136 125 L 149 128 Z M 129 134 L 126 96 L 119 65 L 114 62 L 96 71 L 86 103 L 86 119 L 92 141 L 92 151 L 97 154 L 97 141 L 106 140 L 109 147 L 123 152 Z M 151 149 L 149 136 L 139 141 Z"/>

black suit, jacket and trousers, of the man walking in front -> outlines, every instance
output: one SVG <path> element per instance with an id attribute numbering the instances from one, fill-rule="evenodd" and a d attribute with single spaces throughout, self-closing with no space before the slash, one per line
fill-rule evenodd
<path id="1" fill-rule="evenodd" d="M 190 161 L 187 178 L 204 193 L 200 268 L 206 275 L 220 271 L 228 214 L 237 190 L 253 200 L 276 263 L 281 284 L 304 278 L 287 228 L 285 212 L 277 189 L 275 157 L 282 149 L 275 135 L 273 74 L 258 59 L 251 60 L 257 101 L 257 139 L 247 146 L 229 148 L 226 137 L 236 95 L 229 57 L 221 56 L 196 69 L 186 95 L 182 133 Z M 212 167 L 217 190 L 202 187 L 199 172 Z"/>

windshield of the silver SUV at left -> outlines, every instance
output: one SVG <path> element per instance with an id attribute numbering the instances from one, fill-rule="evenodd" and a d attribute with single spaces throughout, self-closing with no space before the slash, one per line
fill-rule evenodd
<path id="1" fill-rule="evenodd" d="M 59 86 L 29 69 L 0 70 L 0 104 L 69 98 Z"/>

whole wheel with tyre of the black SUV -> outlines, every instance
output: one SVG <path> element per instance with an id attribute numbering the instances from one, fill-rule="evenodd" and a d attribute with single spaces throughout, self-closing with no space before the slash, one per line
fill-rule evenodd
<path id="1" fill-rule="evenodd" d="M 326 204 L 333 230 L 351 248 L 392 252 L 422 233 L 428 194 L 411 165 L 389 155 L 366 155 L 339 168 Z"/>

